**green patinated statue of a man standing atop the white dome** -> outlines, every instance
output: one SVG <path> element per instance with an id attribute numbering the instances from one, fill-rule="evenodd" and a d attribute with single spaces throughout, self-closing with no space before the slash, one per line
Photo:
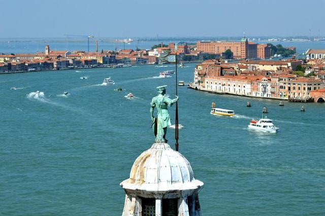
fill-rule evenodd
<path id="1" fill-rule="evenodd" d="M 155 134 L 155 142 L 167 142 L 166 133 L 167 127 L 171 124 L 171 116 L 168 112 L 168 107 L 172 106 L 178 101 L 178 96 L 175 99 L 170 99 L 166 96 L 166 87 L 167 85 L 158 86 L 158 96 L 152 98 L 151 101 L 151 120 L 153 121 L 153 131 Z M 157 117 L 153 116 L 154 108 L 157 108 Z"/>

